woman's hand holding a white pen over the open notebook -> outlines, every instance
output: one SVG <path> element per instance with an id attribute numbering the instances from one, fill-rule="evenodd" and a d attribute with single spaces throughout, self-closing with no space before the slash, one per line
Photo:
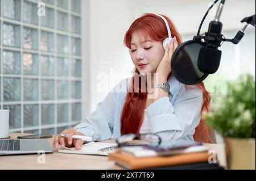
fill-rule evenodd
<path id="1" fill-rule="evenodd" d="M 60 134 L 67 134 L 68 137 L 61 137 Z M 61 145 L 62 147 L 75 147 L 77 150 L 80 150 L 84 141 L 72 138 L 74 134 L 85 136 L 82 133 L 78 133 L 75 128 L 65 129 L 63 132 L 57 134 L 54 137 L 52 142 L 53 148 L 56 148 L 57 146 Z"/>

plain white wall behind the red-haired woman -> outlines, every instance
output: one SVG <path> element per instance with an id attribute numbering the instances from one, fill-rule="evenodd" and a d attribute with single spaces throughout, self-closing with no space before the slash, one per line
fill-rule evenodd
<path id="1" fill-rule="evenodd" d="M 101 102 L 108 94 L 97 91 L 97 75 L 99 73 L 109 74 L 110 69 L 115 73 L 129 74 L 134 66 L 130 60 L 127 48 L 123 45 L 123 37 L 130 24 L 141 16 L 143 12 L 155 12 L 166 14 L 175 22 L 181 34 L 195 33 L 200 21 L 208 9 L 211 1 L 205 0 L 84 0 L 83 6 L 86 14 L 85 29 L 89 35 L 86 41 L 84 55 L 86 61 L 84 70 L 89 71 L 89 78 L 86 77 L 84 91 L 89 89 L 89 98 L 84 96 L 89 112 L 95 110 L 97 103 Z M 255 14 L 254 0 L 227 0 L 221 22 L 224 24 L 223 30 L 240 30 L 243 24 L 240 20 L 245 16 Z M 201 33 L 207 31 L 208 24 L 212 17 L 205 19 Z M 191 37 L 192 38 L 192 37 Z M 87 42 L 88 41 L 88 42 Z M 86 75 L 86 74 L 85 74 Z M 115 83 L 118 79 L 115 80 Z M 109 85 L 110 90 L 114 85 Z M 88 95 L 86 93 L 86 95 Z M 87 108 L 87 107 L 86 107 Z M 88 111 L 84 112 L 86 115 Z"/>

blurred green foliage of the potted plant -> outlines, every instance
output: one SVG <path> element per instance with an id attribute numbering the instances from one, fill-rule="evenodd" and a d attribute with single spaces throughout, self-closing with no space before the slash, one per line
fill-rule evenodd
<path id="1" fill-rule="evenodd" d="M 207 124 L 225 137 L 255 138 L 255 80 L 243 74 L 226 82 L 225 95 L 212 97 L 212 110 L 204 115 Z"/>

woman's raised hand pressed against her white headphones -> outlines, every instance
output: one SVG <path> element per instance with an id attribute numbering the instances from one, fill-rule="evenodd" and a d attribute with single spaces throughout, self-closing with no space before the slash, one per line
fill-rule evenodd
<path id="1" fill-rule="evenodd" d="M 158 69 L 156 70 L 156 73 L 158 73 L 158 81 L 160 83 L 166 82 L 168 75 L 171 73 L 171 59 L 172 54 L 174 53 L 174 50 L 178 47 L 176 37 L 174 37 L 170 45 L 166 46 L 164 56 L 162 60 L 160 61 L 160 64 L 158 65 Z"/>

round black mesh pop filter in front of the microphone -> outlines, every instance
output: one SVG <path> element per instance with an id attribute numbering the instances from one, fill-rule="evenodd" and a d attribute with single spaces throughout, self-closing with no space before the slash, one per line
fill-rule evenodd
<path id="1" fill-rule="evenodd" d="M 195 40 L 185 41 L 172 54 L 171 69 L 177 80 L 186 85 L 195 85 L 202 82 L 208 73 L 198 68 L 198 60 L 203 45 Z"/>

